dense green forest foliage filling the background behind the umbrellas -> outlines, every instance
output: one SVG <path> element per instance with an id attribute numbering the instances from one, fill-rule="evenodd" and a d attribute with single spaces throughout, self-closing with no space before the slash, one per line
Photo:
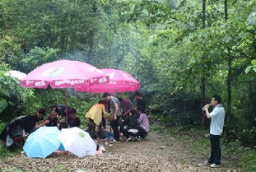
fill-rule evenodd
<path id="1" fill-rule="evenodd" d="M 142 84 L 151 113 L 170 126 L 201 122 L 200 81 L 206 97 L 221 95 L 227 108 L 231 63 L 230 139 L 254 147 L 256 118 L 256 2 L 207 1 L 202 28 L 199 0 L 3 0 L 0 2 L 0 118 L 12 119 L 64 104 L 62 90 L 21 88 L 5 77 L 58 59 L 119 68 Z M 200 5 L 198 5 L 200 4 Z M 84 125 L 100 97 L 68 90 L 68 105 Z M 207 123 L 208 124 L 208 123 Z M 246 139 L 249 138 L 249 139 Z"/>

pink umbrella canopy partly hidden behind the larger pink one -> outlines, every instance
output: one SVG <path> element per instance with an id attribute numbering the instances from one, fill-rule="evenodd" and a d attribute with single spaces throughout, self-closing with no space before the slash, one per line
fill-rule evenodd
<path id="1" fill-rule="evenodd" d="M 101 69 L 109 75 L 109 82 L 98 86 L 76 86 L 75 91 L 94 93 L 137 91 L 140 83 L 127 72 L 115 69 Z"/>

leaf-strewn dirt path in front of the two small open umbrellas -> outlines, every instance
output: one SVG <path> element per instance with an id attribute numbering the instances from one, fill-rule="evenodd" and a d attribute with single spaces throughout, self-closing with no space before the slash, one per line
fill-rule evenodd
<path id="1" fill-rule="evenodd" d="M 12 171 L 11 167 L 23 171 L 235 171 L 227 167 L 212 170 L 203 165 L 203 161 L 203 157 L 191 154 L 175 137 L 162 137 L 151 132 L 144 141 L 119 142 L 107 147 L 103 156 L 28 159 L 19 155 L 0 160 L 0 171 Z"/>

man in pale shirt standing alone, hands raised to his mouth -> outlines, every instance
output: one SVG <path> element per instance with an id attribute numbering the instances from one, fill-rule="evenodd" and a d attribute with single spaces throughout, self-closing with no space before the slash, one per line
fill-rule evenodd
<path id="1" fill-rule="evenodd" d="M 214 109 L 209 113 L 208 108 L 213 106 Z M 205 161 L 206 165 L 212 168 L 221 167 L 221 145 L 220 137 L 223 131 L 225 110 L 221 105 L 221 97 L 213 95 L 211 105 L 205 105 L 204 108 L 207 119 L 211 119 L 210 125 L 210 141 L 211 141 L 211 157 Z"/>

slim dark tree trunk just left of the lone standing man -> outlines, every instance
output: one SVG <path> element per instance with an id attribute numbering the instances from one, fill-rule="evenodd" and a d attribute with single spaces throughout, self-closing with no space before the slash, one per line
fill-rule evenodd
<path id="1" fill-rule="evenodd" d="M 202 0 L 202 29 L 205 28 L 205 24 L 206 24 L 206 0 Z M 205 77 L 204 75 L 201 78 L 200 81 L 200 98 L 201 98 L 201 107 L 203 107 L 206 103 L 205 101 Z M 205 128 L 205 112 L 201 111 L 202 114 L 202 128 Z"/>

